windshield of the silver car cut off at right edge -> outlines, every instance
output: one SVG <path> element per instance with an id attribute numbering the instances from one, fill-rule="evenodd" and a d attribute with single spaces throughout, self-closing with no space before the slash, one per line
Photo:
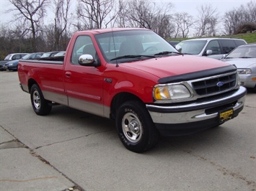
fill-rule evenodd
<path id="1" fill-rule="evenodd" d="M 237 47 L 225 58 L 256 58 L 256 45 Z"/>

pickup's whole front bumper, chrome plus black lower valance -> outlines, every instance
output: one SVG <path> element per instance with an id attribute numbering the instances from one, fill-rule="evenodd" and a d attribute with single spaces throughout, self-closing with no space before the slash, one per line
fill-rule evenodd
<path id="1" fill-rule="evenodd" d="M 191 134 L 221 123 L 219 113 L 233 109 L 233 118 L 238 116 L 244 107 L 246 88 L 218 98 L 207 98 L 193 103 L 179 103 L 175 106 L 146 104 L 152 120 L 162 136 Z"/>

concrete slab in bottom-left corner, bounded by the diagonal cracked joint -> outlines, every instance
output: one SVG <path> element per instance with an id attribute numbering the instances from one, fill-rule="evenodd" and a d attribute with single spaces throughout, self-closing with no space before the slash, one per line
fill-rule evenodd
<path id="1" fill-rule="evenodd" d="M 0 126 L 0 190 L 80 190 Z"/>

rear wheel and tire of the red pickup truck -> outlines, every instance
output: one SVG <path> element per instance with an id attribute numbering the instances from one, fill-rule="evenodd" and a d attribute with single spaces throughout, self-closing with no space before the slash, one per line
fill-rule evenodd
<path id="1" fill-rule="evenodd" d="M 48 115 L 51 111 L 51 102 L 45 100 L 43 97 L 43 93 L 38 87 L 38 85 L 34 84 L 30 90 L 30 100 L 32 104 L 32 108 L 34 109 L 35 113 L 39 116 Z"/>

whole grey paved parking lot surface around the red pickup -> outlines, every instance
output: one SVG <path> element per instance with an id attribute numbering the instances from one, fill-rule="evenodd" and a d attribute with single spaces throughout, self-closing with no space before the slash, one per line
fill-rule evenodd
<path id="1" fill-rule="evenodd" d="M 115 123 L 66 106 L 37 116 L 0 73 L 0 190 L 256 190 L 256 93 L 222 126 L 129 152 Z"/>

